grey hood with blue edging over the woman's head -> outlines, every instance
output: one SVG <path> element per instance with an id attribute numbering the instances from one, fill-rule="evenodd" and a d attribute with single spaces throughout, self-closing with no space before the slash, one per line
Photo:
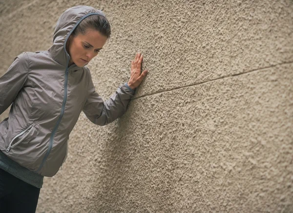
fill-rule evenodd
<path id="1" fill-rule="evenodd" d="M 77 25 L 90 15 L 105 14 L 91 6 L 78 5 L 68 8 L 57 21 L 54 31 L 53 45 L 48 49 L 50 57 L 65 67 L 68 67 L 70 56 L 66 51 L 66 42 Z M 72 67 L 78 67 L 72 64 Z"/>

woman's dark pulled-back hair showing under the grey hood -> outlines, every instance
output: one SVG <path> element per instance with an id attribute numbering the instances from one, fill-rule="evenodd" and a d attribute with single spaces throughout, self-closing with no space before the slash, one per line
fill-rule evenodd
<path id="1" fill-rule="evenodd" d="M 78 36 L 79 34 L 85 34 L 88 29 L 97 30 L 102 35 L 110 38 L 111 35 L 111 27 L 109 21 L 100 15 L 91 15 L 86 17 L 83 21 L 81 21 L 77 27 L 73 30 L 71 35 L 73 37 Z"/>

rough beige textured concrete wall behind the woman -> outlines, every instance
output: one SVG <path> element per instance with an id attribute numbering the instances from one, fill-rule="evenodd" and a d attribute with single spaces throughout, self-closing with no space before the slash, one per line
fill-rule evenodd
<path id="1" fill-rule="evenodd" d="M 1 1 L 0 74 L 79 4 L 111 23 L 89 64 L 104 100 L 136 51 L 149 73 L 115 122 L 80 115 L 38 213 L 293 212 L 292 0 Z"/>

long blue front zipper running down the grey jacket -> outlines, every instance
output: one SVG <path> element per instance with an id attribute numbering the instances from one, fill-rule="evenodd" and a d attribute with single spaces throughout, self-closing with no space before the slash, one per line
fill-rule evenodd
<path id="1" fill-rule="evenodd" d="M 44 156 L 44 158 L 42 160 L 42 164 L 40 165 L 39 169 L 36 172 L 39 172 L 42 169 L 43 165 L 45 164 L 45 162 L 47 160 L 47 157 L 49 156 L 49 154 L 51 152 L 51 149 L 53 147 L 53 140 L 54 140 L 55 133 L 56 133 L 58 127 L 59 127 L 59 124 L 60 124 L 61 119 L 62 119 L 63 114 L 64 114 L 65 104 L 66 104 L 66 100 L 67 100 L 68 62 L 69 62 L 69 60 L 67 61 L 67 64 L 66 64 L 65 82 L 64 82 L 64 98 L 63 98 L 63 105 L 62 105 L 62 109 L 61 109 L 61 114 L 60 114 L 60 117 L 59 117 L 59 119 L 58 119 L 58 121 L 56 123 L 55 128 L 52 131 L 52 134 L 51 134 L 51 137 L 50 137 L 49 148 L 47 150 L 47 153 L 46 153 L 46 155 Z"/>

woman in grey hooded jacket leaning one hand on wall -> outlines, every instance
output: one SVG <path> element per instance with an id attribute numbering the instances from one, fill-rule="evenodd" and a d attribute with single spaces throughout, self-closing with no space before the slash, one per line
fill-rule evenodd
<path id="1" fill-rule="evenodd" d="M 43 176 L 54 176 L 67 155 L 69 134 L 81 111 L 97 125 L 122 116 L 147 71 L 143 56 L 131 62 L 131 76 L 103 101 L 88 64 L 110 37 L 102 11 L 75 6 L 57 22 L 47 51 L 23 52 L 0 78 L 0 210 L 35 212 Z"/>

